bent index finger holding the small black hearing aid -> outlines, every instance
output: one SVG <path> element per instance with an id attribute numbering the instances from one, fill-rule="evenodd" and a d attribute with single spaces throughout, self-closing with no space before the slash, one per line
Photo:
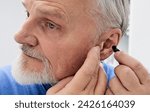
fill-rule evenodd
<path id="1" fill-rule="evenodd" d="M 116 52 L 114 56 L 120 64 L 130 67 L 136 73 L 141 83 L 146 82 L 148 71 L 139 61 L 122 51 Z"/>

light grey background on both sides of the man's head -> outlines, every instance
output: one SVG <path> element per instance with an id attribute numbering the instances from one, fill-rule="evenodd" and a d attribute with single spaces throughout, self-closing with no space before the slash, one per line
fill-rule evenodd
<path id="1" fill-rule="evenodd" d="M 150 69 L 150 0 L 132 0 L 130 37 L 124 38 L 121 49 L 128 51 Z M 14 34 L 26 18 L 21 0 L 0 2 L 0 66 L 11 64 L 18 55 Z M 128 43 L 129 42 L 129 43 Z M 128 49 L 129 46 L 129 49 Z"/>

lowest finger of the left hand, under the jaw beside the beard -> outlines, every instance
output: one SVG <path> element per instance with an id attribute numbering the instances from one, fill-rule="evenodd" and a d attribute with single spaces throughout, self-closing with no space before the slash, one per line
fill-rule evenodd
<path id="1" fill-rule="evenodd" d="M 73 77 L 68 77 L 60 82 L 58 82 L 55 86 L 51 87 L 48 91 L 47 91 L 47 95 L 52 95 L 57 93 L 58 91 L 60 91 L 61 89 L 65 88 L 65 86 L 72 80 Z"/>

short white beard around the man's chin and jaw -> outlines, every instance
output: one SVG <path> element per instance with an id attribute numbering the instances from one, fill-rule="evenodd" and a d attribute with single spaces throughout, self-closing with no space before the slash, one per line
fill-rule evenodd
<path id="1" fill-rule="evenodd" d="M 19 56 L 12 66 L 12 75 L 14 79 L 20 84 L 41 84 L 41 83 L 50 83 L 55 84 L 57 80 L 54 75 L 51 73 L 51 67 L 49 66 L 49 62 L 44 58 L 42 60 L 44 64 L 44 69 L 42 71 L 30 71 L 24 70 L 24 64 L 26 60 L 23 56 Z"/>

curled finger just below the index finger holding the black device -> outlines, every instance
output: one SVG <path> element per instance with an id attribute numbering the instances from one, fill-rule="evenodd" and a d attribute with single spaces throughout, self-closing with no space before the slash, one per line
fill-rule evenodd
<path id="1" fill-rule="evenodd" d="M 129 67 L 119 65 L 115 68 L 115 74 L 119 78 L 122 85 L 129 91 L 133 91 L 140 87 L 140 81 Z"/>

